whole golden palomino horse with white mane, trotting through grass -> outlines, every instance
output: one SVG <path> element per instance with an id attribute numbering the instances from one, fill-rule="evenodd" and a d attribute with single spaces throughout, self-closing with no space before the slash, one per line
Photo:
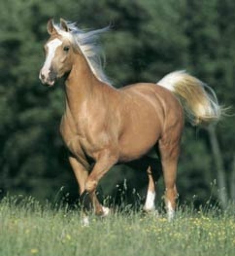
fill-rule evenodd
<path id="1" fill-rule="evenodd" d="M 177 196 L 176 169 L 184 111 L 193 125 L 200 125 L 217 121 L 221 109 L 210 87 L 182 71 L 166 75 L 157 84 L 112 87 L 102 72 L 96 42 L 105 30 L 85 32 L 63 19 L 58 25 L 49 20 L 46 61 L 39 78 L 52 86 L 56 78 L 66 75 L 66 109 L 60 130 L 71 153 L 69 161 L 80 195 L 89 194 L 95 213 L 104 216 L 109 212 L 95 194 L 103 175 L 114 164 L 138 159 L 157 147 L 170 220 Z M 144 208 L 148 211 L 154 210 L 155 186 L 150 168 L 147 173 Z M 84 213 L 84 224 L 87 221 Z"/>

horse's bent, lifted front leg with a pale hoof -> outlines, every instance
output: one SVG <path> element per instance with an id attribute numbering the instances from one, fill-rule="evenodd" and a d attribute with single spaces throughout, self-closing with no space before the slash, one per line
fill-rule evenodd
<path id="1" fill-rule="evenodd" d="M 103 175 L 108 172 L 114 164 L 117 163 L 118 155 L 107 149 L 99 152 L 98 155 L 99 156 L 96 160 L 94 168 L 86 180 L 84 194 L 89 193 L 89 196 L 94 204 L 95 214 L 105 216 L 109 213 L 109 209 L 99 203 L 95 195 L 95 190 Z"/>

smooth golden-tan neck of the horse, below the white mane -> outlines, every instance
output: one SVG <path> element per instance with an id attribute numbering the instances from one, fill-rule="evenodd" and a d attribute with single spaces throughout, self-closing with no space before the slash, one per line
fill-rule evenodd
<path id="1" fill-rule="evenodd" d="M 72 116 L 77 115 L 85 102 L 92 102 L 102 93 L 103 86 L 108 85 L 94 76 L 83 56 L 77 56 L 66 80 L 66 111 L 70 111 Z"/>

